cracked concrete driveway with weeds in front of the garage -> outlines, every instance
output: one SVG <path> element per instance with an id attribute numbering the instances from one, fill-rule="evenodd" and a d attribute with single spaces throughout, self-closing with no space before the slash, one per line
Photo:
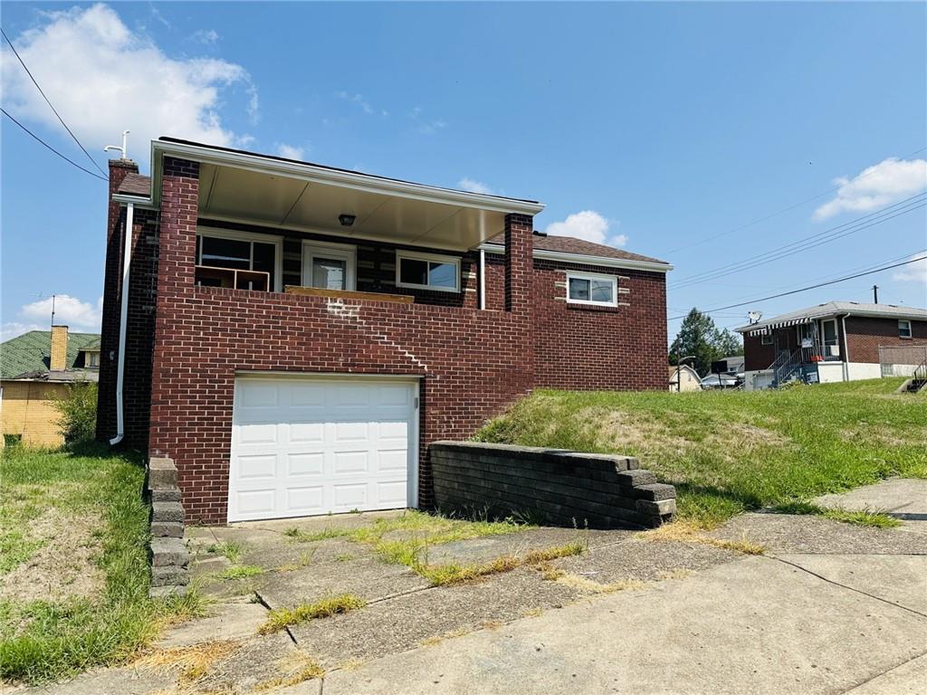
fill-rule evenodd
<path id="1" fill-rule="evenodd" d="M 922 481 L 888 484 L 892 509 L 921 509 Z M 876 487 L 873 500 L 885 490 Z M 859 490 L 852 499 L 866 503 Z M 897 695 L 927 682 L 927 537 L 916 530 L 749 513 L 707 537 L 584 533 L 579 555 L 434 587 L 331 530 L 377 518 L 304 520 L 301 536 L 293 523 L 193 531 L 197 573 L 219 600 L 213 615 L 166 634 L 157 667 L 133 663 L 47 692 Z M 429 548 L 428 560 L 524 556 L 578 533 L 469 538 Z M 205 551 L 230 541 L 244 549 L 235 562 Z M 766 553 L 738 551 L 751 543 Z M 220 578 L 233 566 L 262 569 Z M 269 609 L 343 590 L 366 606 L 257 634 Z M 190 677 L 184 659 L 210 650 Z M 307 663 L 324 676 L 310 678 Z"/>

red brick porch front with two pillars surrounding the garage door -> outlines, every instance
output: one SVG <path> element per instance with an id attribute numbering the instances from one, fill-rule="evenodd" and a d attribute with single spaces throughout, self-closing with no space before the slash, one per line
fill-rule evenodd
<path id="1" fill-rule="evenodd" d="M 164 168 L 148 447 L 176 462 L 189 518 L 225 519 L 235 372 L 244 370 L 422 376 L 420 501 L 429 505 L 427 444 L 469 436 L 533 383 L 530 219 L 506 221 L 511 311 L 197 288 L 197 165 L 166 158 Z"/>

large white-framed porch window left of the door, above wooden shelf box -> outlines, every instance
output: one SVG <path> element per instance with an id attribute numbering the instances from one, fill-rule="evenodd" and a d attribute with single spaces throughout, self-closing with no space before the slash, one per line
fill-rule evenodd
<path id="1" fill-rule="evenodd" d="M 268 288 L 283 291 L 282 236 L 228 229 L 197 229 L 197 265 L 235 271 L 266 272 Z"/>

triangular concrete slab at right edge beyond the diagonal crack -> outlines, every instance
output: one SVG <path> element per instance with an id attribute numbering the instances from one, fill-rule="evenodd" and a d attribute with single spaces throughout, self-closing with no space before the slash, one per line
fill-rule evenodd
<path id="1" fill-rule="evenodd" d="M 927 617 L 927 555 L 777 555 L 828 581 L 904 606 Z M 924 645 L 927 649 L 927 644 Z"/>

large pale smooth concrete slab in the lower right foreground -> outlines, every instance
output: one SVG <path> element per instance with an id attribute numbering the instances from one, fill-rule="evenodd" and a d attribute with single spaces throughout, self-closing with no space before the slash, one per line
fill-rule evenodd
<path id="1" fill-rule="evenodd" d="M 840 693 L 925 640 L 919 615 L 752 557 L 334 672 L 324 692 Z"/>

